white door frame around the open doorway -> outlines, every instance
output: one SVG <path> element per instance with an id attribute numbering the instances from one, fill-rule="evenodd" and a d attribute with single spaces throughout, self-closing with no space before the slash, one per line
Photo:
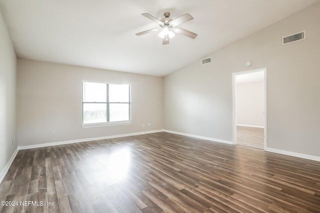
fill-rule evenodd
<path id="1" fill-rule="evenodd" d="M 232 144 L 236 144 L 236 82 L 235 82 L 235 76 L 236 75 L 242 75 L 252 72 L 264 72 L 264 150 L 266 150 L 266 68 L 260 68 L 260 69 L 253 69 L 243 72 L 233 72 L 232 73 Z"/>

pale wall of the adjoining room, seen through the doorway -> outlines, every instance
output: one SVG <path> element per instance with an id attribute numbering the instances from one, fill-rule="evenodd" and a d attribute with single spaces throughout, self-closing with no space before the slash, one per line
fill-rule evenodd
<path id="1" fill-rule="evenodd" d="M 264 81 L 236 84 L 236 125 L 264 127 Z"/>

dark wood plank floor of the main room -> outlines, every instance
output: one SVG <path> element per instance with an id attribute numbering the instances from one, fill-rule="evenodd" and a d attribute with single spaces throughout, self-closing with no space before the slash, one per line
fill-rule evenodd
<path id="1" fill-rule="evenodd" d="M 320 212 L 320 162 L 161 132 L 19 151 L 0 201 L 38 202 L 2 213 Z"/>

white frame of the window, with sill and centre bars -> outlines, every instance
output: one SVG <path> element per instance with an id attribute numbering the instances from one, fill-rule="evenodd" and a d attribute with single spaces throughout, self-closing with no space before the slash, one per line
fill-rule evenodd
<path id="1" fill-rule="evenodd" d="M 118 84 L 118 85 L 128 85 L 129 86 L 129 102 L 125 102 L 129 104 L 129 120 L 125 121 L 107 121 L 107 122 L 101 122 L 101 123 L 83 123 L 83 103 L 90 103 L 90 102 L 83 102 L 83 82 L 90 82 L 90 83 L 103 83 L 103 84 Z M 107 94 L 108 95 L 108 91 Z M 110 104 L 113 102 L 103 102 L 106 104 Z M 124 102 L 116 102 L 116 103 L 124 103 Z M 81 82 L 81 121 L 82 121 L 82 128 L 88 128 L 88 127 L 103 127 L 103 126 L 117 126 L 117 125 L 127 125 L 131 124 L 131 85 L 130 84 L 121 84 L 121 83 L 114 83 L 114 82 L 101 82 L 101 81 L 88 81 L 88 80 L 82 80 Z"/>

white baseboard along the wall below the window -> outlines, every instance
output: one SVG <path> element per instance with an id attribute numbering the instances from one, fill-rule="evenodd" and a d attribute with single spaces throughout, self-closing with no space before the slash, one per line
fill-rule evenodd
<path id="1" fill-rule="evenodd" d="M 34 149 L 34 148 L 50 147 L 50 146 L 63 145 L 63 144 L 73 144 L 73 143 L 80 143 L 80 142 L 87 142 L 87 141 L 104 140 L 104 139 L 110 139 L 110 138 L 121 138 L 121 137 L 134 136 L 134 135 L 143 135 L 143 134 L 150 134 L 150 133 L 156 133 L 156 132 L 163 132 L 163 130 L 136 132 L 136 133 L 128 133 L 128 134 L 122 134 L 122 135 L 111 135 L 111 136 L 104 136 L 104 137 L 97 137 L 97 138 L 85 138 L 85 139 L 77 139 L 77 140 L 70 140 L 70 141 L 59 141 L 59 142 L 35 144 L 35 145 L 29 145 L 29 146 L 19 146 L 18 149 L 19 150 Z"/>

